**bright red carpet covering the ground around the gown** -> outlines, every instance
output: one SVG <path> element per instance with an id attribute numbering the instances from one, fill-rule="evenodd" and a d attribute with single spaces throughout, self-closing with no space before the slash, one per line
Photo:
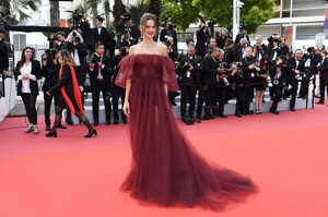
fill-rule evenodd
<path id="1" fill-rule="evenodd" d="M 328 108 L 179 125 L 209 160 L 248 174 L 260 192 L 220 213 L 144 206 L 119 191 L 130 166 L 127 125 L 83 125 L 47 138 L 25 118 L 0 122 L 0 217 L 326 217 Z M 11 129 L 11 130 L 5 130 Z"/>

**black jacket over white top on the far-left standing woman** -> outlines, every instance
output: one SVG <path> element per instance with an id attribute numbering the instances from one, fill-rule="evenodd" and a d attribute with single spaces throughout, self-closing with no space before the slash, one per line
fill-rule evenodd
<path id="1" fill-rule="evenodd" d="M 19 61 L 15 68 L 15 80 L 19 80 L 19 75 L 21 75 L 21 65 L 23 65 L 23 62 Z M 30 88 L 31 88 L 31 94 L 37 96 L 38 95 L 38 84 L 37 80 L 40 79 L 42 73 L 40 73 L 40 64 L 39 61 L 37 60 L 32 60 L 32 72 L 31 74 L 36 76 L 36 81 L 30 80 Z M 22 94 L 22 80 L 19 81 L 17 83 L 17 95 Z"/>

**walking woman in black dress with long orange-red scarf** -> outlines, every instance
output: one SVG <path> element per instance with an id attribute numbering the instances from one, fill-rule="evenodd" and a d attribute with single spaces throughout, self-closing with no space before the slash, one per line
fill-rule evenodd
<path id="1" fill-rule="evenodd" d="M 75 114 L 82 123 L 89 129 L 89 133 L 84 137 L 91 137 L 97 135 L 96 130 L 91 125 L 87 118 L 83 114 L 84 109 L 82 105 L 81 91 L 79 87 L 77 74 L 75 74 L 75 62 L 72 56 L 67 50 L 60 50 L 59 62 L 61 68 L 59 70 L 59 81 L 52 86 L 47 95 L 51 96 L 56 92 L 60 91 L 60 97 L 56 107 L 56 118 L 52 129 L 46 134 L 47 137 L 57 137 L 57 128 L 61 120 L 61 112 L 65 108 L 69 108 L 70 111 Z"/>

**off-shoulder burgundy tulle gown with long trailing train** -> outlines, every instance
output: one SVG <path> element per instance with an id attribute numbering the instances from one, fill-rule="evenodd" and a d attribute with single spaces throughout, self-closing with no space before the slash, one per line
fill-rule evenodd
<path id="1" fill-rule="evenodd" d="M 132 165 L 122 190 L 142 202 L 214 210 L 258 191 L 249 178 L 207 162 L 179 130 L 163 87 L 178 89 L 168 57 L 127 56 L 116 84 L 125 87 L 128 79 Z"/>

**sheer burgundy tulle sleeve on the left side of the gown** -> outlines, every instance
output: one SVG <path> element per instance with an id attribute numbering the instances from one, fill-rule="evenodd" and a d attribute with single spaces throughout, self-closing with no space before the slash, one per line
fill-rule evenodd
<path id="1" fill-rule="evenodd" d="M 136 61 L 136 56 L 127 56 L 119 62 L 118 64 L 119 71 L 115 80 L 115 84 L 117 86 L 125 88 L 127 84 L 127 80 L 133 80 L 134 61 Z"/>

